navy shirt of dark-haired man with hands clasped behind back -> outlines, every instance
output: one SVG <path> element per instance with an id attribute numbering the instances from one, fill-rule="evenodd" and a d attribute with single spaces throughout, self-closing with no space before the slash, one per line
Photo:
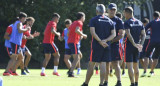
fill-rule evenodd
<path id="1" fill-rule="evenodd" d="M 140 42 L 141 31 L 145 29 L 143 23 L 140 20 L 136 18 L 130 18 L 125 21 L 124 28 L 130 29 L 131 36 L 133 37 L 135 43 Z M 127 44 L 130 43 L 131 42 L 127 39 Z"/>

